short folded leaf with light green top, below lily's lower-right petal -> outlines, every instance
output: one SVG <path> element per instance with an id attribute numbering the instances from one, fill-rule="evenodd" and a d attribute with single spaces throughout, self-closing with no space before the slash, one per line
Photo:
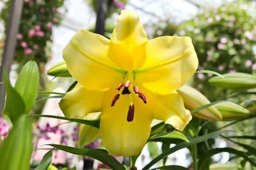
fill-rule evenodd
<path id="1" fill-rule="evenodd" d="M 179 131 L 155 134 L 148 139 L 148 142 L 154 141 L 154 139 L 156 139 L 157 142 L 163 141 L 164 143 L 172 143 L 173 139 L 181 139 L 183 141 L 189 142 L 189 139 L 187 139 L 186 136 Z"/>

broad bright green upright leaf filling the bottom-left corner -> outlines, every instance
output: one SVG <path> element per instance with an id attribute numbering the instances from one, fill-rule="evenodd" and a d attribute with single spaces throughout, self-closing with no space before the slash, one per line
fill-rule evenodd
<path id="1" fill-rule="evenodd" d="M 3 142 L 0 150 L 0 170 L 29 170 L 32 153 L 31 122 L 21 115 Z"/>

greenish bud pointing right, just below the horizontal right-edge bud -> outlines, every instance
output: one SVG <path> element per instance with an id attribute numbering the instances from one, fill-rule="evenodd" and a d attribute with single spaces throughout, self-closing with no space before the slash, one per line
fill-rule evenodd
<path id="1" fill-rule="evenodd" d="M 222 121 L 239 120 L 250 116 L 250 111 L 233 102 L 217 103 L 215 107 L 222 114 Z"/>

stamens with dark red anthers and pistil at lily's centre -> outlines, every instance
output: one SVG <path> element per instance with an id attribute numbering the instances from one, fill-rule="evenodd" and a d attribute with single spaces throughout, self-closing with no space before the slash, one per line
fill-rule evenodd
<path id="1" fill-rule="evenodd" d="M 125 75 L 125 79 L 126 81 L 124 83 L 121 83 L 117 88 L 116 90 L 120 91 L 122 88 L 122 95 L 129 95 L 130 97 L 130 101 L 131 101 L 131 104 L 129 105 L 129 109 L 128 109 L 128 113 L 127 113 L 127 121 L 128 122 L 132 122 L 133 119 L 134 119 L 134 104 L 132 103 L 132 99 L 131 99 L 131 86 L 132 86 L 132 82 L 133 81 L 133 74 L 132 73 L 127 73 Z M 143 100 L 143 102 L 146 104 L 147 103 L 147 98 L 146 96 L 141 93 L 139 91 L 139 88 L 137 86 L 133 86 L 132 87 L 132 90 L 133 90 L 133 93 L 138 96 L 140 99 Z M 112 102 L 111 102 L 111 107 L 113 107 L 116 103 L 116 101 L 120 98 L 120 94 L 116 94 L 113 99 L 112 99 Z"/>

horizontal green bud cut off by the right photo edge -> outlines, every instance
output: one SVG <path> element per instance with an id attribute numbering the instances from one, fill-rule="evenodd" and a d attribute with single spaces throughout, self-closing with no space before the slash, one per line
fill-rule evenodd
<path id="1" fill-rule="evenodd" d="M 231 89 L 249 89 L 256 88 L 256 76 L 247 73 L 228 73 L 222 75 L 222 77 L 216 76 L 209 79 L 209 84 Z"/>

